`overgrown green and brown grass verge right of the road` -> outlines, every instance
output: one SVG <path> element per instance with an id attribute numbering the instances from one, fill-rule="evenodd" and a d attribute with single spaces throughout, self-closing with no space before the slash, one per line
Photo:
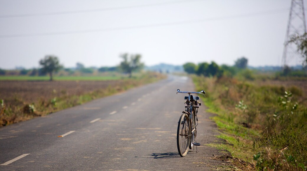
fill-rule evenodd
<path id="1" fill-rule="evenodd" d="M 229 151 L 243 170 L 306 170 L 307 101 L 300 87 L 235 78 L 193 81 L 206 90 L 204 103 L 217 114 L 212 119 L 224 141 L 209 146 Z"/>

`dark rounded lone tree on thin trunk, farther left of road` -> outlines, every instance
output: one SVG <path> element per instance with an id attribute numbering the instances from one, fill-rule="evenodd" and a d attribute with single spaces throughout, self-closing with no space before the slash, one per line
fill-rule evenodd
<path id="1" fill-rule="evenodd" d="M 46 55 L 44 59 L 39 61 L 39 64 L 42 66 L 42 71 L 49 74 L 50 81 L 52 81 L 52 73 L 62 68 L 59 59 L 53 55 Z"/>

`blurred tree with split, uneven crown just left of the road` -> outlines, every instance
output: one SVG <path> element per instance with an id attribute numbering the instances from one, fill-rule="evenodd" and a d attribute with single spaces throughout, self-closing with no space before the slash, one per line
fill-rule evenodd
<path id="1" fill-rule="evenodd" d="M 123 61 L 120 63 L 119 67 L 124 73 L 132 76 L 132 71 L 141 70 L 144 67 L 144 63 L 141 63 L 142 56 L 140 54 L 130 55 L 130 60 L 128 60 L 128 53 L 120 55 Z"/>

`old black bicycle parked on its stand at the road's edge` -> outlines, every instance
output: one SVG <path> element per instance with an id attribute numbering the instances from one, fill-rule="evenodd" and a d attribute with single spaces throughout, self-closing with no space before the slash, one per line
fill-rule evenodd
<path id="1" fill-rule="evenodd" d="M 201 103 L 199 96 L 193 96 L 191 94 L 201 94 L 205 97 L 205 91 L 201 90 L 200 92 L 188 92 L 180 91 L 177 89 L 177 93 L 188 93 L 188 96 L 185 96 L 185 111 L 182 112 L 178 122 L 177 129 L 177 148 L 181 157 L 185 157 L 188 153 L 188 148 L 192 150 L 194 146 L 200 146 L 200 143 L 197 143 L 196 138 L 196 126 L 198 125 L 197 112 Z M 204 93 L 204 94 L 203 94 Z"/>

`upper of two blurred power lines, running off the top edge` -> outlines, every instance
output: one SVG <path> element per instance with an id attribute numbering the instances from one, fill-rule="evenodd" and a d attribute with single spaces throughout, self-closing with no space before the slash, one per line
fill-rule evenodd
<path id="1" fill-rule="evenodd" d="M 133 5 L 133 6 L 123 6 L 123 7 L 113 7 L 113 8 L 84 9 L 84 10 L 61 11 L 61 12 L 50 12 L 50 13 L 29 13 L 29 14 L 0 15 L 0 18 L 36 17 L 36 16 L 50 16 L 50 15 L 62 15 L 62 14 L 92 13 L 92 12 L 111 11 L 111 10 L 118 10 L 118 9 L 141 8 L 141 7 L 149 7 L 149 6 L 161 6 L 161 5 L 169 5 L 169 4 L 175 4 L 175 3 L 191 2 L 191 1 L 203 1 L 203 0 L 181 0 L 181 1 L 163 2 L 163 3 L 147 4 L 147 5 Z"/>

